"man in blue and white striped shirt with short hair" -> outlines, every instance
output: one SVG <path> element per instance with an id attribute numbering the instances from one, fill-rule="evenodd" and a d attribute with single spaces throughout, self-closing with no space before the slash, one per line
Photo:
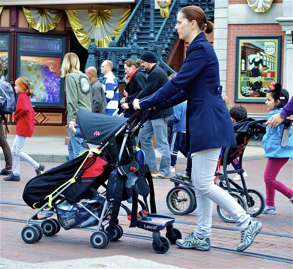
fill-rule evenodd
<path id="1" fill-rule="evenodd" d="M 112 73 L 113 63 L 105 60 L 101 65 L 101 73 L 104 75 L 102 86 L 105 92 L 107 107 L 105 114 L 113 115 L 118 108 L 119 101 L 119 87 L 114 74 Z"/>

